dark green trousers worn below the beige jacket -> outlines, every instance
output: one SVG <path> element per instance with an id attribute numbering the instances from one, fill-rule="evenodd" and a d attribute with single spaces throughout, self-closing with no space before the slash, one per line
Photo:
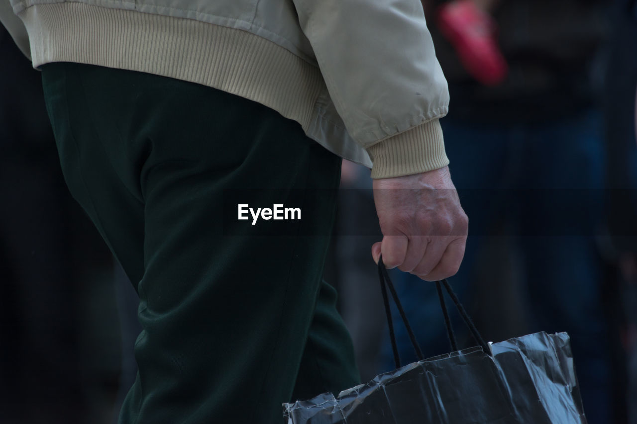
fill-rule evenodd
<path id="1" fill-rule="evenodd" d="M 322 281 L 340 159 L 213 88 L 71 63 L 42 76 L 66 182 L 140 295 L 120 423 L 282 423 L 282 402 L 359 383 Z M 301 220 L 264 234 L 224 214 L 245 189 L 259 207 L 307 193 Z"/>

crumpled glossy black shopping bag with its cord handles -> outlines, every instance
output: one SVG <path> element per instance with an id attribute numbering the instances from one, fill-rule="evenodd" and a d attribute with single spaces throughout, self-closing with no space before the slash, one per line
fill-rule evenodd
<path id="1" fill-rule="evenodd" d="M 568 334 L 540 332 L 486 344 L 443 280 L 436 286 L 454 351 L 400 367 L 385 284 L 421 359 L 422 352 L 382 260 L 379 275 L 396 371 L 338 397 L 324 393 L 283 404 L 289 424 L 586 424 Z M 441 287 L 480 346 L 455 348 Z"/>

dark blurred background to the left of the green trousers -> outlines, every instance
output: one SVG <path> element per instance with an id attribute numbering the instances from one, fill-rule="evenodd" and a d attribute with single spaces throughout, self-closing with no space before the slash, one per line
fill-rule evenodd
<path id="1" fill-rule="evenodd" d="M 114 423 L 136 293 L 66 188 L 40 78 L 0 25 L 0 423 Z"/>

